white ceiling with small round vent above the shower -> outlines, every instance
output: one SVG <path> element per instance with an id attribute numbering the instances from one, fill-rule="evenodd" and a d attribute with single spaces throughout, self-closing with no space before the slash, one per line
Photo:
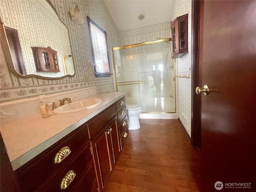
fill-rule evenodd
<path id="1" fill-rule="evenodd" d="M 118 32 L 170 22 L 173 0 L 104 0 Z M 145 14 L 144 20 L 138 20 Z"/>

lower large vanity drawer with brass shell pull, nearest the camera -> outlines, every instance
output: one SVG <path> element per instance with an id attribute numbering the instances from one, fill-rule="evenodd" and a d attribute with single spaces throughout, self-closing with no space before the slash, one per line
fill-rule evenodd
<path id="1" fill-rule="evenodd" d="M 70 182 L 70 176 L 73 171 L 75 177 L 72 177 L 72 181 Z M 60 172 L 56 179 L 54 179 L 51 183 L 48 184 L 48 187 L 43 190 L 44 192 L 63 192 L 63 191 L 76 191 L 74 190 L 78 187 L 81 179 L 84 177 L 87 171 L 94 171 L 93 161 L 92 161 L 92 154 L 90 152 L 90 146 L 87 146 L 82 152 L 69 164 L 68 166 L 63 167 L 62 172 Z M 69 175 L 67 175 L 69 173 Z M 95 173 L 92 180 L 96 180 Z M 86 178 L 88 179 L 88 178 Z M 66 180 L 66 185 L 63 180 Z M 81 181 L 82 182 L 82 181 Z M 92 184 L 93 185 L 93 184 Z M 61 188 L 66 187 L 66 188 Z"/>

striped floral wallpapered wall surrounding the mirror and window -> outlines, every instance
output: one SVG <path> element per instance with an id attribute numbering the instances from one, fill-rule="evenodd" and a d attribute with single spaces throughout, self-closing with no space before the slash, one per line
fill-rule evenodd
<path id="1" fill-rule="evenodd" d="M 40 78 L 18 78 L 8 71 L 2 45 L 0 47 L 0 99 L 1 102 L 17 100 L 20 98 L 34 97 L 41 94 L 51 94 L 61 91 L 74 90 L 88 86 L 96 86 L 97 93 L 113 92 L 114 77 L 96 78 L 90 62 L 92 53 L 87 22 L 76 24 L 70 20 L 68 10 L 71 3 L 76 2 L 86 19 L 89 16 L 102 29 L 107 32 L 109 48 L 119 46 L 118 31 L 114 22 L 101 0 L 79 1 L 79 0 L 50 0 L 60 17 L 67 26 L 71 42 L 71 50 L 75 64 L 75 76 L 62 78 L 60 80 L 44 80 Z M 110 66 L 113 72 L 113 62 L 110 54 Z"/>

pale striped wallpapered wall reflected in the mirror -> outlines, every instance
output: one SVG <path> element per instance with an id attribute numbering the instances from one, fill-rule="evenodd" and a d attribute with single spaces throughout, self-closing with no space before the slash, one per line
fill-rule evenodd
<path id="1" fill-rule="evenodd" d="M 50 4 L 42 1 L 2 0 L 1 17 L 4 26 L 16 29 L 27 74 L 48 77 L 66 75 L 62 56 L 71 55 L 68 30 L 53 11 Z M 52 11 L 51 11 L 52 10 Z M 36 72 L 31 47 L 48 47 L 57 51 L 60 72 Z"/>

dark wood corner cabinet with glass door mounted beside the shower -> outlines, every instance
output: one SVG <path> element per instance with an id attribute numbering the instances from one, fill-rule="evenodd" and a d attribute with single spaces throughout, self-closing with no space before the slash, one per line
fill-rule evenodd
<path id="1" fill-rule="evenodd" d="M 188 52 L 188 14 L 171 22 L 172 58 L 181 58 Z"/>

